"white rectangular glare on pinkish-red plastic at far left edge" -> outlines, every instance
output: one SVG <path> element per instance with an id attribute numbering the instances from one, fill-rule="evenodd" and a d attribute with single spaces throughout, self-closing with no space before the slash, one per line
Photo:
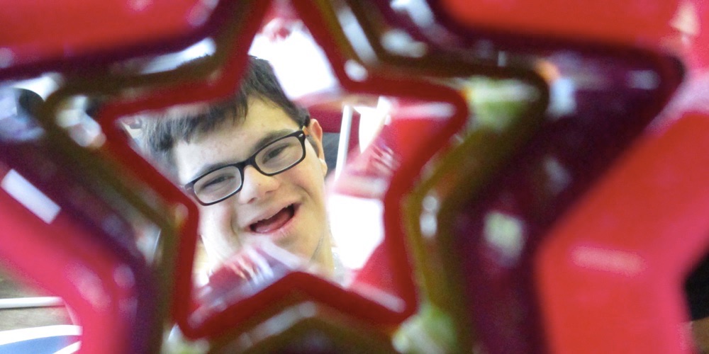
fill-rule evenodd
<path id="1" fill-rule="evenodd" d="M 61 210 L 57 203 L 15 170 L 5 175 L 0 187 L 47 224 L 51 224 Z"/>

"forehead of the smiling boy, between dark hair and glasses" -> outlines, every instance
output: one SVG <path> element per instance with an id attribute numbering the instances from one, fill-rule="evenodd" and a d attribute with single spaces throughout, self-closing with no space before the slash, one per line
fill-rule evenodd
<path id="1" fill-rule="evenodd" d="M 259 139 L 269 133 L 297 129 L 298 123 L 277 105 L 252 98 L 244 119 L 224 120 L 211 132 L 175 144 L 174 161 L 179 181 L 190 181 L 204 166 L 247 159 Z"/>

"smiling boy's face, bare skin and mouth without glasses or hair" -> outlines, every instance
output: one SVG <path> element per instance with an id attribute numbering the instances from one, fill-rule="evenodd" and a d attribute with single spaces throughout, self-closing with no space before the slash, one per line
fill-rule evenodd
<path id="1" fill-rule="evenodd" d="M 245 120 L 235 124 L 227 120 L 213 132 L 175 145 L 179 182 L 192 181 L 216 166 L 244 161 L 262 144 L 298 128 L 277 105 L 250 99 Z M 316 120 L 311 120 L 308 130 L 316 147 L 306 140 L 306 156 L 299 164 L 275 176 L 247 166 L 239 193 L 214 205 L 199 205 L 199 233 L 213 265 L 250 241 L 269 239 L 306 261 L 331 267 L 323 132 Z"/>

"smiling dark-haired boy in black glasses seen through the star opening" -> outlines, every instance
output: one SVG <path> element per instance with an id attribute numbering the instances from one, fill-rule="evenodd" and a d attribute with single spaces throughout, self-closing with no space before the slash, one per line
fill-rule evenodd
<path id="1" fill-rule="evenodd" d="M 270 241 L 332 275 L 323 130 L 268 62 L 250 57 L 229 100 L 172 108 L 144 125 L 152 156 L 198 202 L 211 265 Z"/>

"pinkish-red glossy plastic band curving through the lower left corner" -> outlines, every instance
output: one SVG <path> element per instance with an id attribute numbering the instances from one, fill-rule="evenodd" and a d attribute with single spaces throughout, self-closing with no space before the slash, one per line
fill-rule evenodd
<path id="1" fill-rule="evenodd" d="M 48 224 L 0 190 L 0 213 L 4 265 L 64 299 L 82 326 L 82 353 L 128 352 L 137 314 L 125 305 L 138 290 L 121 275 L 130 268 L 62 212 Z"/>

